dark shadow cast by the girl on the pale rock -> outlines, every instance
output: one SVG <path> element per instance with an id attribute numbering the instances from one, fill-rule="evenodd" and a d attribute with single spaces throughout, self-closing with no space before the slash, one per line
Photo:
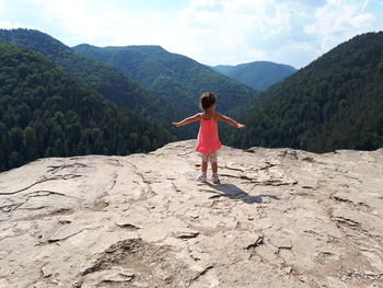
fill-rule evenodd
<path id="1" fill-rule="evenodd" d="M 214 194 L 210 196 L 210 198 L 228 197 L 235 200 L 243 200 L 244 203 L 247 203 L 247 204 L 263 203 L 264 198 L 280 200 L 279 197 L 274 195 L 267 195 L 267 194 L 262 194 L 257 196 L 248 195 L 245 191 L 241 189 L 234 184 L 220 184 L 220 185 L 212 185 L 210 183 L 206 183 L 206 184 L 213 189 L 201 189 L 201 191 Z"/>

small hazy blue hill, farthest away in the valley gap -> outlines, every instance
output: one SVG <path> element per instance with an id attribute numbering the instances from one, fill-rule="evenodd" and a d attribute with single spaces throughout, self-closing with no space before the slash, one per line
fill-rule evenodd
<path id="1" fill-rule="evenodd" d="M 255 61 L 236 66 L 219 65 L 211 68 L 257 91 L 265 91 L 270 85 L 297 72 L 292 66 L 269 61 Z"/>

